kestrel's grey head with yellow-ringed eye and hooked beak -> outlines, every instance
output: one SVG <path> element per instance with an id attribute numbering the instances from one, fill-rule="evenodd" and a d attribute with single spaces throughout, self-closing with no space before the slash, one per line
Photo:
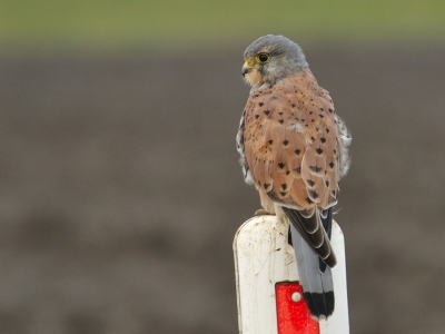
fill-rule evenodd
<path id="1" fill-rule="evenodd" d="M 243 77 L 253 88 L 274 86 L 307 67 L 301 48 L 283 36 L 267 35 L 244 52 Z"/>

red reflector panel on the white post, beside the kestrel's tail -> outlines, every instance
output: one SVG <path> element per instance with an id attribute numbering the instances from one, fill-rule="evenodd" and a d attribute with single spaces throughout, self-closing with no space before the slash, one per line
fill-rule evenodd
<path id="1" fill-rule="evenodd" d="M 319 325 L 310 317 L 297 282 L 275 284 L 278 334 L 319 334 Z"/>

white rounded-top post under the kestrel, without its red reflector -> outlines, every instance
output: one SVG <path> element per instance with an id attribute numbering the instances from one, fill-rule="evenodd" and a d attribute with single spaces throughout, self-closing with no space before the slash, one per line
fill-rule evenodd
<path id="1" fill-rule="evenodd" d="M 275 284 L 298 281 L 294 249 L 287 242 L 288 228 L 275 216 L 258 216 L 243 224 L 235 235 L 239 333 L 278 333 Z M 319 330 L 320 334 L 347 334 L 345 243 L 335 222 L 332 246 L 337 257 L 337 265 L 333 268 L 335 311 L 327 321 L 319 323 Z"/>

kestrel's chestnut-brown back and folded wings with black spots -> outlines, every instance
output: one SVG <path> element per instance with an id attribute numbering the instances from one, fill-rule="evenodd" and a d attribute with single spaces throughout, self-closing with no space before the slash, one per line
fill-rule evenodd
<path id="1" fill-rule="evenodd" d="M 309 69 L 254 91 L 244 146 L 255 185 L 285 206 L 328 208 L 338 193 L 334 105 Z"/>

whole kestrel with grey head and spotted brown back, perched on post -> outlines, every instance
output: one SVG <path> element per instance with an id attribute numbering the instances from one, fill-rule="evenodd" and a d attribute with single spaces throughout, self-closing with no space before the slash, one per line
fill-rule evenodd
<path id="1" fill-rule="evenodd" d="M 334 312 L 333 206 L 349 168 L 348 129 L 318 86 L 298 45 L 264 36 L 244 52 L 251 86 L 237 135 L 243 174 L 263 209 L 290 222 L 304 298 L 313 316 Z"/>

